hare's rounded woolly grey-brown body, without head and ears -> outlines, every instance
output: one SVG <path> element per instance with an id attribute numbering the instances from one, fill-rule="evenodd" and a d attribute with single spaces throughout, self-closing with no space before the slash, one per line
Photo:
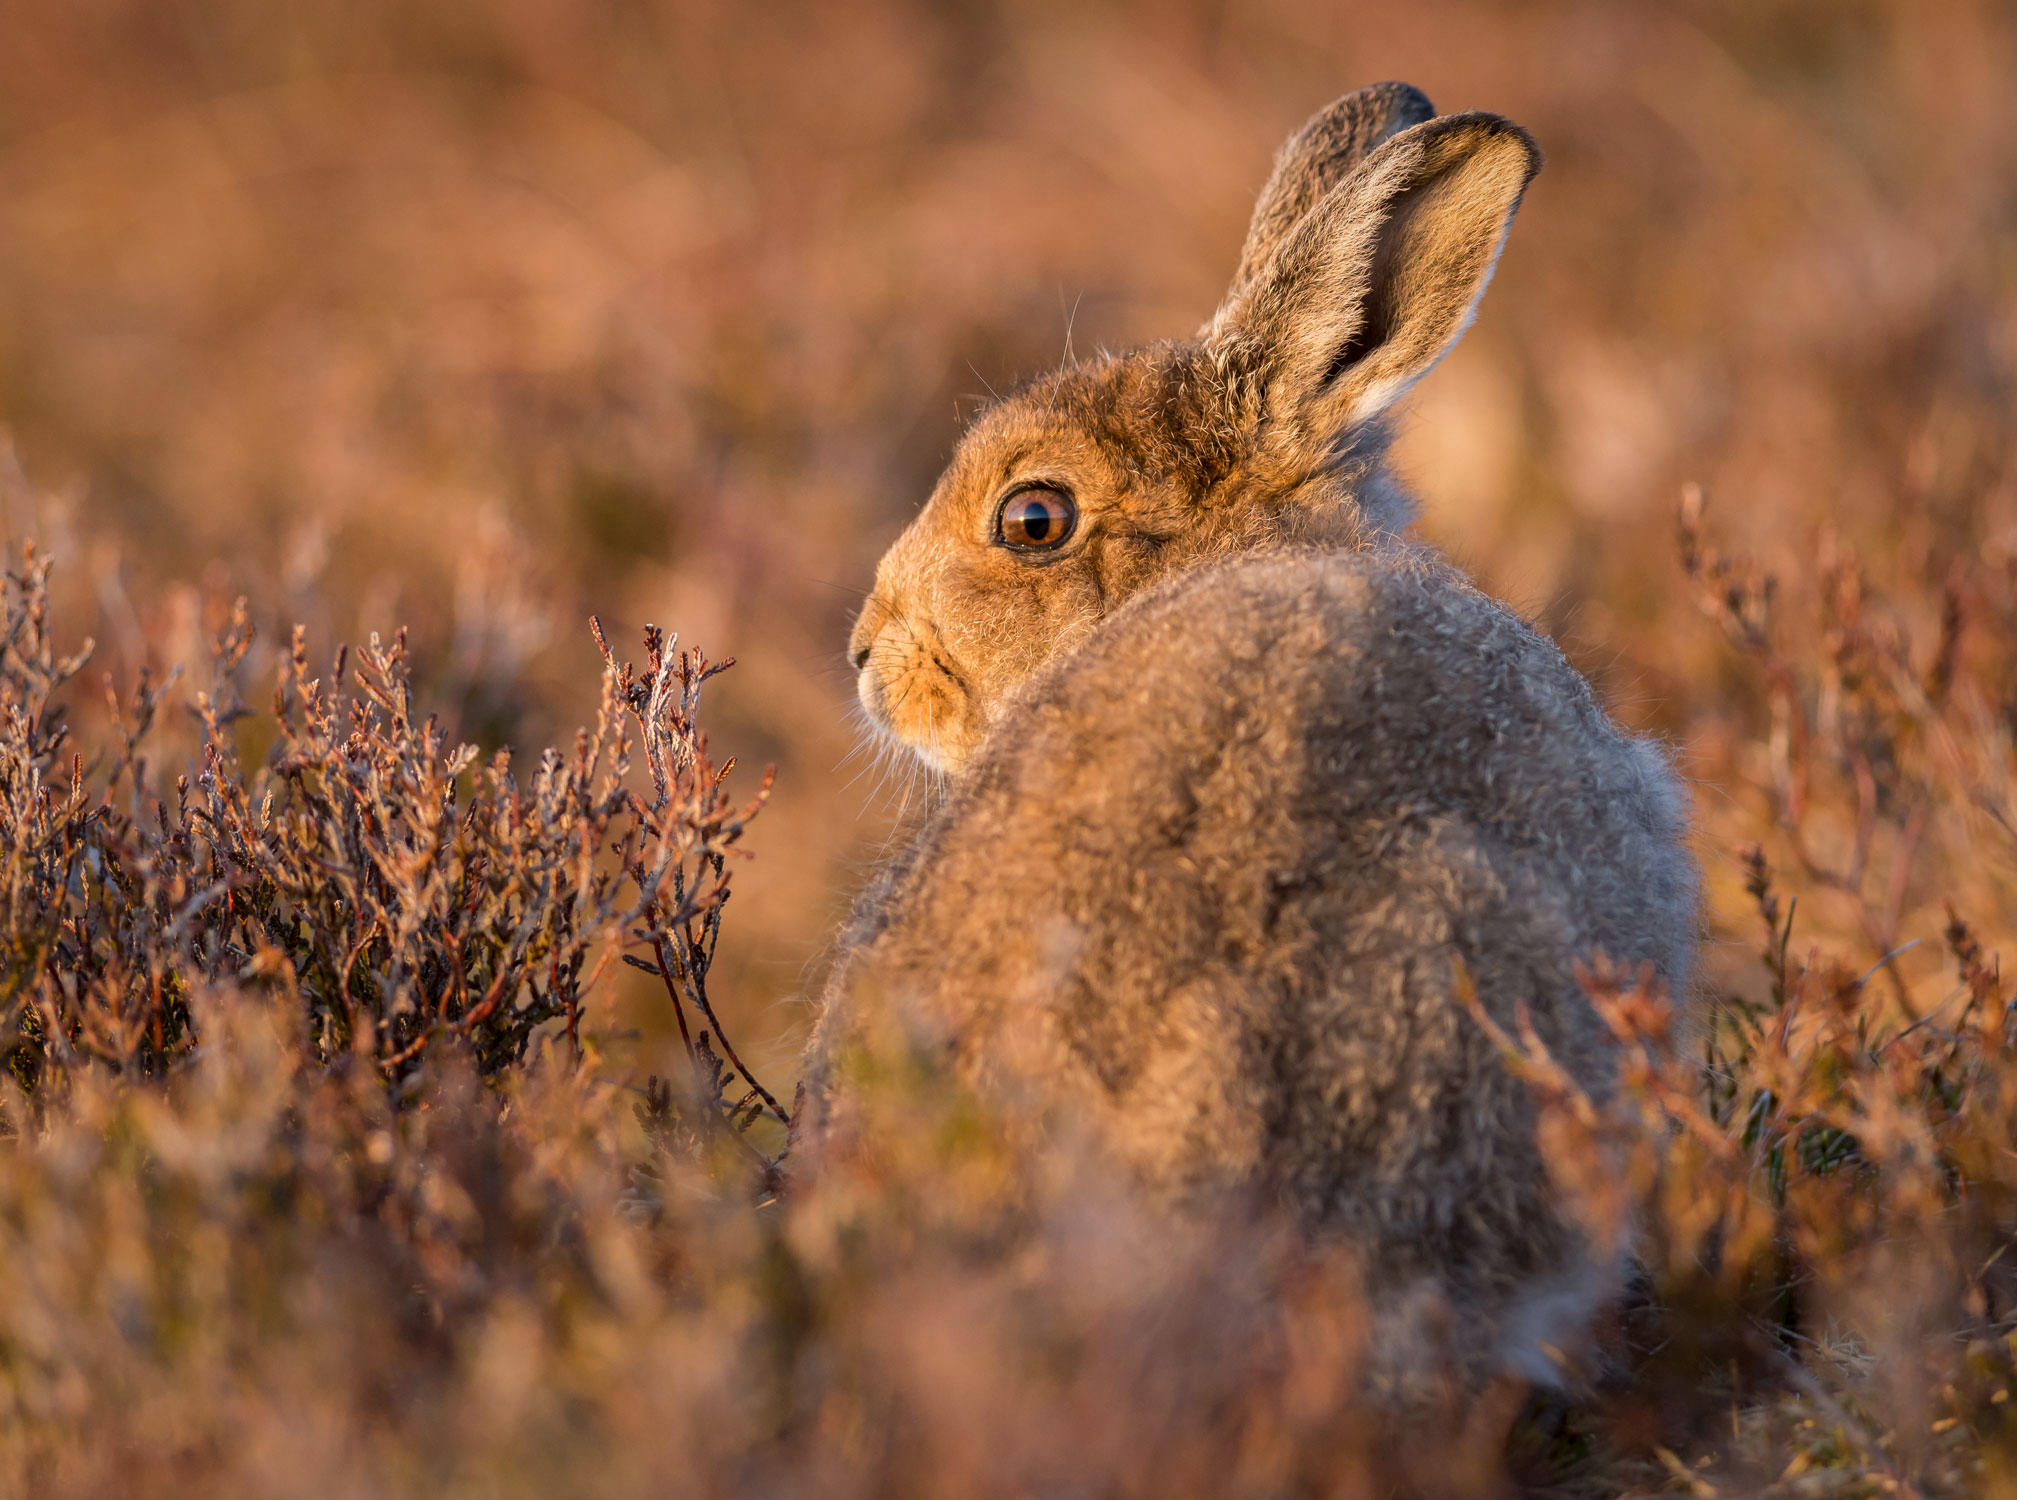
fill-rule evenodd
<path id="1" fill-rule="evenodd" d="M 1678 982 L 1690 929 L 1666 770 L 1553 645 L 1432 565 L 1255 556 L 1031 683 L 865 899 L 823 1030 L 896 1004 L 1150 1181 L 1273 1183 L 1380 1276 L 1503 1306 L 1573 1236 L 1458 972 L 1604 1089 L 1575 964 Z"/>

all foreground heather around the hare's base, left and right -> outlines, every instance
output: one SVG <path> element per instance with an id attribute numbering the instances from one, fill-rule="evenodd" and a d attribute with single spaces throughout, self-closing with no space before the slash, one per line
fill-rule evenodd
<path id="1" fill-rule="evenodd" d="M 0 657 L 0 1474 L 34 1494 L 2011 1482 L 2007 875 L 1954 887 L 1940 958 L 1898 942 L 1914 861 L 1983 847 L 2017 788 L 1997 565 L 1942 573 L 1914 643 L 1914 601 L 1840 552 L 1789 607 L 1712 550 L 1696 494 L 1682 556 L 1757 714 L 1759 843 L 1723 855 L 1755 984 L 1672 1036 L 1660 996 L 1593 972 L 1628 1058 L 1601 1105 L 1503 1038 L 1563 1190 L 1638 1246 L 1640 1284 L 1583 1395 L 1452 1389 L 1378 1417 L 1351 1375 L 1378 1288 L 1349 1248 L 1170 1226 L 924 1054 L 869 1058 L 875 1149 L 779 1198 L 758 1145 L 789 1111 L 706 992 L 756 810 L 696 726 L 720 667 L 651 633 L 520 790 L 508 754 L 478 764 L 416 716 L 397 641 L 325 685 L 296 635 L 272 714 L 246 712 L 238 611 L 190 702 L 200 768 L 157 784 L 143 748 L 173 688 L 143 681 L 103 748 L 73 746 L 56 694 L 83 653 L 50 639 L 30 552 Z M 1799 942 L 1795 885 L 1850 901 L 1827 946 Z M 670 1083 L 623 1085 L 585 1024 L 615 954 L 678 1014 Z"/>

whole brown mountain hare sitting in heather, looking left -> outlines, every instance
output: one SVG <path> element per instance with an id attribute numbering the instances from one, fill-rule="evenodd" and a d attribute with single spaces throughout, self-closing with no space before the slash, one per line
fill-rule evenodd
<path id="1" fill-rule="evenodd" d="M 1349 1240 L 1376 1367 L 1440 1319 L 1474 1375 L 1539 1373 L 1616 1286 L 1460 990 L 1601 1097 L 1575 970 L 1686 984 L 1682 798 L 1400 536 L 1386 468 L 1537 167 L 1495 115 L 1347 95 L 1283 149 L 1196 339 L 972 423 L 853 631 L 869 716 L 950 784 L 843 938 L 801 1139 L 898 1014 L 1154 1188 L 1259 1188 Z"/>

